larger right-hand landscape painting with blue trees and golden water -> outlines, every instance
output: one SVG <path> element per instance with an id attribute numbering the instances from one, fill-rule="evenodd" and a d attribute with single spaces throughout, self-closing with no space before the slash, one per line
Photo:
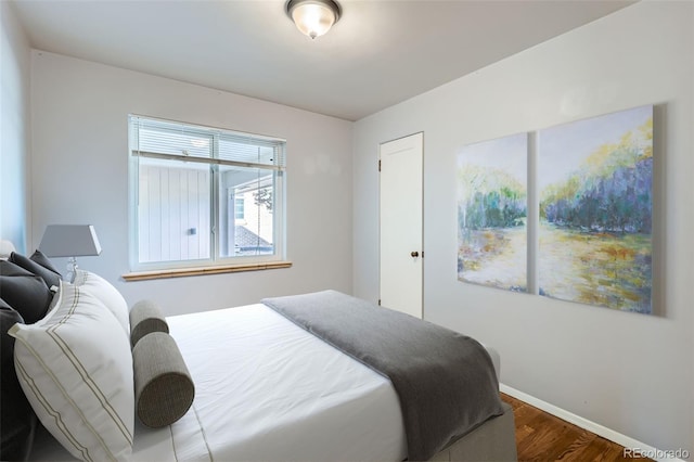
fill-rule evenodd
<path id="1" fill-rule="evenodd" d="M 540 295 L 651 313 L 653 106 L 538 132 Z"/>

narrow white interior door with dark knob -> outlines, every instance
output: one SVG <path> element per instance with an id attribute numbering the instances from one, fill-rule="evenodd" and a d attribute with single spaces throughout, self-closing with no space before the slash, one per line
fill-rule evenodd
<path id="1" fill-rule="evenodd" d="M 422 318 L 424 133 L 381 144 L 381 305 Z"/>

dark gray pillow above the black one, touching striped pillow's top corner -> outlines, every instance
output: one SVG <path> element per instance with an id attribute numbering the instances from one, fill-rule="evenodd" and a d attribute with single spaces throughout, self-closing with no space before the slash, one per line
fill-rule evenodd
<path id="1" fill-rule="evenodd" d="M 0 260 L 0 294 L 26 324 L 42 319 L 53 299 L 46 281 L 11 261 Z"/>

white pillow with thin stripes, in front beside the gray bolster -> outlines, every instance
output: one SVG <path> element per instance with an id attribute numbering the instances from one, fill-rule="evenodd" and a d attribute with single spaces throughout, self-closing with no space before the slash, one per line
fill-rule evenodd
<path id="1" fill-rule="evenodd" d="M 15 324 L 14 363 L 39 420 L 74 457 L 132 454 L 132 355 L 123 326 L 94 295 L 62 283 L 60 301 L 34 324 Z"/>

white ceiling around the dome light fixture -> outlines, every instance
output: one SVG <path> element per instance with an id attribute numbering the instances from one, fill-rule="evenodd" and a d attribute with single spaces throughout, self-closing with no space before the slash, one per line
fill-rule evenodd
<path id="1" fill-rule="evenodd" d="M 342 0 L 311 41 L 283 0 L 14 0 L 36 49 L 348 120 L 631 3 Z"/>

